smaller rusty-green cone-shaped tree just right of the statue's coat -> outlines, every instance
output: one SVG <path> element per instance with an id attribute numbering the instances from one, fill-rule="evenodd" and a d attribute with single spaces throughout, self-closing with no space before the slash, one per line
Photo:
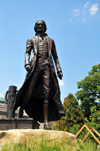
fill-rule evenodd
<path id="1" fill-rule="evenodd" d="M 83 125 L 85 118 L 82 109 L 73 94 L 70 93 L 64 99 L 63 107 L 65 110 L 65 116 L 56 122 L 56 128 L 58 130 L 64 130 L 76 134 Z"/>

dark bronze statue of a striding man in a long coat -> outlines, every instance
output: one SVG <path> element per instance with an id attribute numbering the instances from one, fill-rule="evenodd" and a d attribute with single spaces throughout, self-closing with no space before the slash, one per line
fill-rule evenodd
<path id="1" fill-rule="evenodd" d="M 60 89 L 57 75 L 62 79 L 62 70 L 59 64 L 54 40 L 45 33 L 47 30 L 43 20 L 35 23 L 34 37 L 28 38 L 25 53 L 26 79 L 16 96 L 15 109 L 20 106 L 19 118 L 25 109 L 29 117 L 44 122 L 59 120 L 64 116 L 60 101 Z M 31 50 L 33 56 L 30 61 Z"/>

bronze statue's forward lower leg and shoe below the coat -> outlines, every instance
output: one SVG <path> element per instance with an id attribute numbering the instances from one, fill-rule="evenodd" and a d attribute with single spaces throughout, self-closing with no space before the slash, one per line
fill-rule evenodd
<path id="1" fill-rule="evenodd" d="M 51 130 L 51 125 L 48 122 L 48 103 L 44 103 L 44 129 Z"/>

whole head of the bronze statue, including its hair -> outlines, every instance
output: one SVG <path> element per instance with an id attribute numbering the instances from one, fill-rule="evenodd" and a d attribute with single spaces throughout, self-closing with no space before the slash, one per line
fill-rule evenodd
<path id="1" fill-rule="evenodd" d="M 36 33 L 45 33 L 47 30 L 46 23 L 43 20 L 37 20 L 34 26 Z"/>

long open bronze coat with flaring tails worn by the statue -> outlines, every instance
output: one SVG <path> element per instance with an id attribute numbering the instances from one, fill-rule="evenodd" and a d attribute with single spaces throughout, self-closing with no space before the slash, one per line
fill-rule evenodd
<path id="1" fill-rule="evenodd" d="M 45 36 L 47 36 L 45 34 Z M 64 110 L 62 103 L 60 101 L 60 89 L 57 80 L 57 76 L 54 69 L 54 63 L 56 65 L 57 71 L 61 71 L 60 64 L 58 61 L 58 56 L 55 48 L 55 44 L 53 39 L 48 39 L 48 62 L 50 63 L 50 74 L 51 74 L 51 90 L 50 90 L 50 98 L 49 98 L 49 121 L 56 121 L 59 120 L 62 116 L 64 116 Z M 25 65 L 31 64 L 31 71 L 27 73 L 24 84 L 22 85 L 21 89 L 19 90 L 16 96 L 16 104 L 15 109 L 25 103 L 23 101 L 23 97 L 27 95 L 27 89 L 29 84 L 31 83 L 32 74 L 35 72 L 34 69 L 36 67 L 36 60 L 37 60 L 37 43 L 38 43 L 38 36 L 31 37 L 27 40 L 26 44 L 26 54 L 25 54 Z M 33 57 L 31 62 L 29 61 L 31 49 L 33 49 Z M 25 106 L 25 111 L 29 115 L 29 117 L 34 118 L 36 121 L 44 122 L 43 118 L 43 93 L 42 93 L 42 80 L 39 79 L 36 85 L 36 88 L 31 96 L 31 100 L 27 102 Z"/>

